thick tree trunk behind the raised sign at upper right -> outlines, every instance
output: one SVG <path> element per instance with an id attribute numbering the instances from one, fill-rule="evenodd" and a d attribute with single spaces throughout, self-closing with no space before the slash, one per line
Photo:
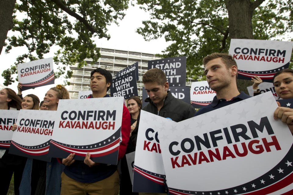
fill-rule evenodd
<path id="1" fill-rule="evenodd" d="M 231 39 L 253 39 L 252 14 L 253 3 L 250 0 L 226 0 L 228 10 L 229 34 Z M 238 90 L 248 94 L 246 87 L 253 82 L 249 80 L 237 79 Z"/>

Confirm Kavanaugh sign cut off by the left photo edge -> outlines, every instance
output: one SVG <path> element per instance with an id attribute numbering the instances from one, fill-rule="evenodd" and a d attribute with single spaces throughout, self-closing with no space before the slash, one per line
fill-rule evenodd
<path id="1" fill-rule="evenodd" d="M 8 150 L 13 135 L 12 126 L 16 123 L 18 110 L 0 111 L 0 149 Z"/>

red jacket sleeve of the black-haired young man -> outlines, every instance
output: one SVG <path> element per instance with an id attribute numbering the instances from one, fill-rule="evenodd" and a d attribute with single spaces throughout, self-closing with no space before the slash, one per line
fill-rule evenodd
<path id="1" fill-rule="evenodd" d="M 126 106 L 123 105 L 121 137 L 120 137 L 122 141 L 120 142 L 120 146 L 119 146 L 118 160 L 120 160 L 126 152 L 129 136 L 130 136 L 130 114 Z"/>

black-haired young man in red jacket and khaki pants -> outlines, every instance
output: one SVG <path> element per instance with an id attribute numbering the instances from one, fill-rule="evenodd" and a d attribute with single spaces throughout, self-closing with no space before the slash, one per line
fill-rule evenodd
<path id="1" fill-rule="evenodd" d="M 107 91 L 112 83 L 112 75 L 105 69 L 95 69 L 91 72 L 90 87 L 92 95 L 89 98 L 109 97 Z M 97 105 L 98 107 L 99 105 Z M 121 137 L 118 160 L 125 154 L 130 135 L 130 114 L 123 106 Z M 122 140 L 122 141 L 121 141 Z M 117 165 L 106 165 L 93 162 L 88 153 L 84 161 L 73 160 L 74 153 L 62 160 L 65 169 L 61 175 L 61 195 L 91 194 L 117 195 L 119 190 L 119 174 Z"/>

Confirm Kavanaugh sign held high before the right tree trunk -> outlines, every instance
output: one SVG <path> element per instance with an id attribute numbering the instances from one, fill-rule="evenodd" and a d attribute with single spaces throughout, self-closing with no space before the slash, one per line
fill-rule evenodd
<path id="1" fill-rule="evenodd" d="M 289 67 L 291 52 L 291 41 L 255 39 L 231 39 L 229 49 L 237 62 L 238 79 L 257 75 L 266 82 L 273 82 L 275 73 Z"/>

